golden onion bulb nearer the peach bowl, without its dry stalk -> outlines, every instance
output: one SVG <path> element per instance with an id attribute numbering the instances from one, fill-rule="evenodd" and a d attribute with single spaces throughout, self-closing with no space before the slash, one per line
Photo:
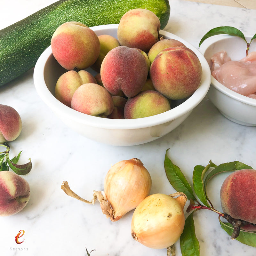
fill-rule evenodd
<path id="1" fill-rule="evenodd" d="M 149 195 L 152 180 L 138 158 L 114 164 L 104 181 L 104 192 L 111 208 L 113 221 L 121 219 Z"/>

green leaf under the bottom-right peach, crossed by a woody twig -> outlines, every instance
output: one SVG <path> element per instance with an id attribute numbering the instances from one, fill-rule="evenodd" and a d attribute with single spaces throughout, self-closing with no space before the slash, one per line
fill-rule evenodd
<path id="1" fill-rule="evenodd" d="M 229 236 L 231 236 L 234 231 L 233 226 L 228 222 L 222 222 L 220 218 L 219 221 L 221 228 L 224 229 Z M 236 238 L 236 240 L 243 244 L 256 247 L 256 232 L 248 232 L 240 229 L 239 236 Z"/>

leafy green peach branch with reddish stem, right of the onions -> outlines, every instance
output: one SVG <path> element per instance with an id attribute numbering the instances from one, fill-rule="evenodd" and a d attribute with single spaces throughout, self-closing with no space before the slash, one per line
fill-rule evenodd
<path id="1" fill-rule="evenodd" d="M 243 244 L 247 244 L 256 247 L 256 232 L 249 232 L 241 230 L 240 228 L 250 224 L 256 226 L 253 223 L 249 223 L 244 220 L 233 219 L 230 215 L 222 213 L 214 208 L 209 197 L 207 196 L 207 184 L 213 176 L 221 172 L 231 172 L 242 169 L 253 169 L 251 166 L 243 164 L 239 161 L 230 163 L 224 163 L 220 165 L 213 164 L 210 160 L 206 166 L 196 165 L 193 171 L 193 189 L 189 182 L 181 172 L 180 168 L 174 165 L 171 159 L 168 157 L 166 150 L 164 159 L 164 169 L 167 179 L 171 183 L 172 187 L 180 192 L 186 194 L 190 200 L 190 204 L 187 208 L 187 212 L 191 212 L 185 220 L 184 231 L 180 236 L 180 249 L 182 255 L 186 256 L 199 256 L 199 242 L 195 234 L 195 226 L 193 220 L 193 213 L 201 209 L 207 209 L 215 212 L 219 216 L 219 222 L 222 229 L 224 229 L 231 239 L 236 239 Z M 222 222 L 221 218 L 226 219 L 228 222 Z"/>

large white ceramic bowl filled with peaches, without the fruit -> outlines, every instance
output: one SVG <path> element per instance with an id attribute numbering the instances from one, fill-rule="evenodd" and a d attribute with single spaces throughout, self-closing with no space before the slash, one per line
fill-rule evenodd
<path id="1" fill-rule="evenodd" d="M 108 34 L 117 38 L 118 24 L 91 27 L 99 36 Z M 198 56 L 202 68 L 202 82 L 187 100 L 173 101 L 172 109 L 164 113 L 138 119 L 107 119 L 89 116 L 73 110 L 54 97 L 57 79 L 66 72 L 52 55 L 49 46 L 39 57 L 34 69 L 34 84 L 41 99 L 66 125 L 83 136 L 110 145 L 129 146 L 156 140 L 180 125 L 203 100 L 211 82 L 210 68 L 203 55 L 191 44 L 171 33 L 160 31 L 164 38 L 180 40 Z M 91 70 L 92 71 L 92 70 Z"/>

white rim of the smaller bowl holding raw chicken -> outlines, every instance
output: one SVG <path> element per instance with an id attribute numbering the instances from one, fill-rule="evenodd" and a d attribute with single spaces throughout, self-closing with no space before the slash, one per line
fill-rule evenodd
<path id="1" fill-rule="evenodd" d="M 246 34 L 244 35 L 245 38 L 252 38 L 253 35 L 252 34 Z M 199 51 L 204 55 L 206 50 L 215 42 L 221 41 L 223 39 L 226 38 L 232 38 L 234 36 L 228 35 L 228 34 L 221 34 L 221 35 L 215 35 L 215 36 L 211 36 L 207 39 L 205 39 L 205 41 L 200 45 L 199 47 Z M 243 40 L 241 38 L 241 40 Z M 218 80 L 216 80 L 212 75 L 211 75 L 211 85 L 219 90 L 220 92 L 224 93 L 225 95 L 229 96 L 230 98 L 233 98 L 235 100 L 238 100 L 240 102 L 243 102 L 245 104 L 248 105 L 252 105 L 256 107 L 256 100 L 249 98 L 247 96 L 244 96 L 242 94 L 239 94 L 237 92 L 232 91 L 231 89 L 227 88 L 225 85 L 221 84 Z"/>

